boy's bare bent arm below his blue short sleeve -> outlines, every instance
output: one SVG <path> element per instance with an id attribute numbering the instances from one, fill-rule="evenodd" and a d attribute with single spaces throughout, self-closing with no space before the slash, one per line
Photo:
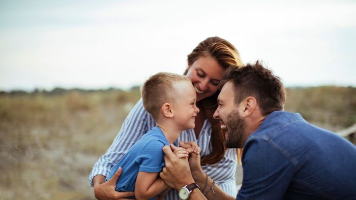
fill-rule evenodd
<path id="1" fill-rule="evenodd" d="M 149 199 L 167 188 L 166 183 L 158 177 L 158 173 L 138 172 L 135 184 L 136 199 Z"/>

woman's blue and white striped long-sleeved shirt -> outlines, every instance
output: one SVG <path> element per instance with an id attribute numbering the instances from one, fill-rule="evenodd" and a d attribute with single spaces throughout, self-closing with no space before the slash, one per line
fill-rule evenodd
<path id="1" fill-rule="evenodd" d="M 151 114 L 144 110 L 142 99 L 138 101 L 135 107 L 131 110 L 125 119 L 121 130 L 116 135 L 113 143 L 106 153 L 99 158 L 94 164 L 93 170 L 89 176 L 91 186 L 93 186 L 93 178 L 96 175 L 107 177 L 110 169 L 120 160 L 125 153 L 134 145 L 147 131 L 156 126 L 156 122 Z M 185 141 L 195 142 L 200 147 L 200 155 L 209 155 L 212 151 L 212 143 L 210 141 L 212 127 L 209 120 L 205 120 L 200 131 L 199 138 L 196 139 L 194 130 L 189 129 L 183 131 L 177 142 Z M 227 149 L 225 155 L 220 162 L 216 164 L 206 164 L 202 166 L 202 170 L 213 179 L 216 184 L 231 196 L 236 196 L 235 169 L 237 156 L 235 149 Z M 179 200 L 178 192 L 171 189 L 164 199 Z"/>

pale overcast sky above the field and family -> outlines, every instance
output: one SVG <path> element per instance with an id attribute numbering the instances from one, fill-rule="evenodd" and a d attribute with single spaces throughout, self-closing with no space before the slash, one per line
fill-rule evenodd
<path id="1" fill-rule="evenodd" d="M 129 89 L 207 37 L 287 87 L 356 87 L 356 1 L 0 1 L 0 90 Z"/>

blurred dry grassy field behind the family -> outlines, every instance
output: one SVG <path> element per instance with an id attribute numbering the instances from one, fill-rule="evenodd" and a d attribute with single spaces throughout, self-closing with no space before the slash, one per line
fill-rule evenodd
<path id="1" fill-rule="evenodd" d="M 331 130 L 356 123 L 356 88 L 289 88 L 285 110 Z M 88 174 L 140 94 L 0 94 L 0 200 L 95 199 Z"/>

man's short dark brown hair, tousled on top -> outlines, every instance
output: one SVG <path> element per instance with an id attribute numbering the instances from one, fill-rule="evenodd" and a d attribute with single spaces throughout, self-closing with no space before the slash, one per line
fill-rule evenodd
<path id="1" fill-rule="evenodd" d="M 238 69 L 230 66 L 221 81 L 221 86 L 231 81 L 234 85 L 235 103 L 240 104 L 248 96 L 253 96 L 262 115 L 283 110 L 286 99 L 285 88 L 280 78 L 264 68 L 259 61 Z"/>

